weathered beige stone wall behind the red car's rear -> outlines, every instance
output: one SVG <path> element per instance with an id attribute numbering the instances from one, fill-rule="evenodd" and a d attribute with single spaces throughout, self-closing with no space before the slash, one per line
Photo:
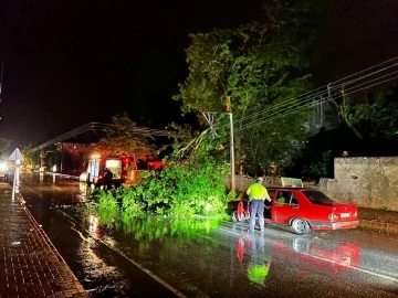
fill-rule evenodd
<path id="1" fill-rule="evenodd" d="M 398 211 L 398 157 L 336 158 L 320 189 L 338 202 Z"/>

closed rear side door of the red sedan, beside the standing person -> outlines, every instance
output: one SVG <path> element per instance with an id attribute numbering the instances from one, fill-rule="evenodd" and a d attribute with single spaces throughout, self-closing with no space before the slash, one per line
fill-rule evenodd
<path id="1" fill-rule="evenodd" d="M 280 200 L 282 196 L 284 201 Z M 289 224 L 290 220 L 296 215 L 298 207 L 298 200 L 293 191 L 279 190 L 272 206 L 272 221 Z"/>

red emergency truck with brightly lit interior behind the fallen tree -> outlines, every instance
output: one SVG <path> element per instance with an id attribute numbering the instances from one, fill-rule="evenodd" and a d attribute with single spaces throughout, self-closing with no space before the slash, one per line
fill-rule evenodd
<path id="1" fill-rule="evenodd" d="M 121 187 L 126 182 L 129 162 L 129 158 L 104 158 L 95 155 L 88 160 L 87 170 L 81 174 L 80 180 L 96 188 L 105 184 Z M 111 177 L 106 177 L 106 169 L 112 172 Z"/>

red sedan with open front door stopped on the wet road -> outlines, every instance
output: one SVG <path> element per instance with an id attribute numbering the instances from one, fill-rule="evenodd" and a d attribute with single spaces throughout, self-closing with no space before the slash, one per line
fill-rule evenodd
<path id="1" fill-rule="evenodd" d="M 264 211 L 265 223 L 290 225 L 296 234 L 355 228 L 359 224 L 356 205 L 336 203 L 322 191 L 310 188 L 268 188 L 268 191 L 272 202 Z M 227 213 L 234 222 L 250 219 L 245 191 L 240 201 L 228 203 Z"/>

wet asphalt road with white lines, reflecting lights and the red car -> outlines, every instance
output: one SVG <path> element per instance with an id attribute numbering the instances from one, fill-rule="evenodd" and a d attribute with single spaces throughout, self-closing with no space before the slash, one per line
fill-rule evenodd
<path id="1" fill-rule="evenodd" d="M 398 297 L 398 238 L 122 221 L 70 207 L 77 181 L 23 174 L 27 206 L 92 297 Z"/>

